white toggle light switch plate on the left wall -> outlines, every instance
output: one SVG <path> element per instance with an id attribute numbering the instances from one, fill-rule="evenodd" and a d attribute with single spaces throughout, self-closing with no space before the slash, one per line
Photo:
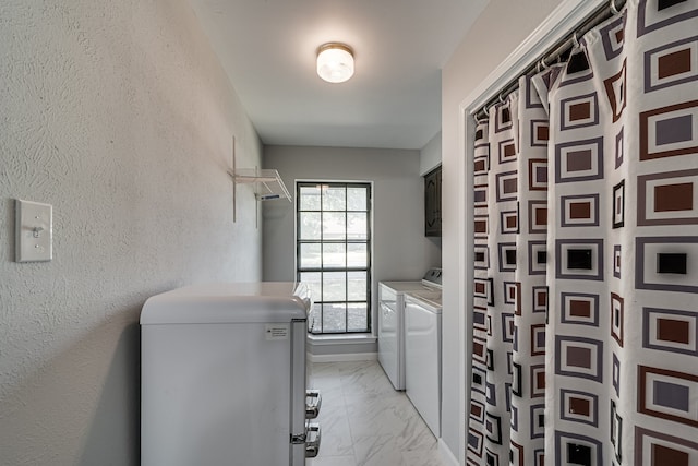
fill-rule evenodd
<path id="1" fill-rule="evenodd" d="M 53 222 L 49 204 L 16 200 L 16 262 L 52 259 Z"/>

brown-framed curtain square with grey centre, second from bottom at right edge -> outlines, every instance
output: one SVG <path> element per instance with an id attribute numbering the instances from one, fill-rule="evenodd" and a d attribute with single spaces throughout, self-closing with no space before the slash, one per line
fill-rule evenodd
<path id="1" fill-rule="evenodd" d="M 638 366 L 638 411 L 698 427 L 698 375 Z"/>

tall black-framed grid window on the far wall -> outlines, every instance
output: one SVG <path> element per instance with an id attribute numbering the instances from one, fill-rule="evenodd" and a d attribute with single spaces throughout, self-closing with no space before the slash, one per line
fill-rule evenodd
<path id="1" fill-rule="evenodd" d="M 297 183 L 297 275 L 314 334 L 371 331 L 371 184 Z"/>

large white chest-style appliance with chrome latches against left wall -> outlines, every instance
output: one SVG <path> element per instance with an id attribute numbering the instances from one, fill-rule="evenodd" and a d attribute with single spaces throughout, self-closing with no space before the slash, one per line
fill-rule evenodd
<path id="1" fill-rule="evenodd" d="M 308 287 L 195 285 L 141 313 L 143 466 L 301 466 L 320 449 L 306 408 Z"/>

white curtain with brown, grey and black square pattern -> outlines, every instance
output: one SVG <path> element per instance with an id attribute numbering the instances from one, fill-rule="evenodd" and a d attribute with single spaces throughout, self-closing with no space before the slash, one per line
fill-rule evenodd
<path id="1" fill-rule="evenodd" d="M 698 0 L 629 0 L 474 144 L 467 464 L 698 464 Z"/>

